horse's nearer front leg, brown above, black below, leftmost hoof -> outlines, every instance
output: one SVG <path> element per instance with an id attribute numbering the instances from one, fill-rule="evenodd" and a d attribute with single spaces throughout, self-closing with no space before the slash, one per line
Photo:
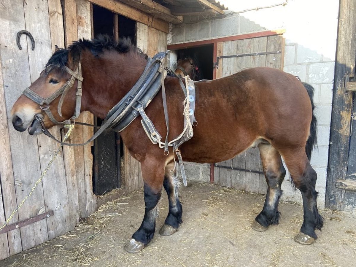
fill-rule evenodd
<path id="1" fill-rule="evenodd" d="M 146 209 L 140 228 L 125 245 L 125 250 L 130 253 L 141 251 L 155 234 L 157 204 L 161 198 L 164 163 L 160 167 L 160 164 L 157 164 L 157 159 L 146 158 L 145 161 L 141 162 L 141 171 Z"/>

